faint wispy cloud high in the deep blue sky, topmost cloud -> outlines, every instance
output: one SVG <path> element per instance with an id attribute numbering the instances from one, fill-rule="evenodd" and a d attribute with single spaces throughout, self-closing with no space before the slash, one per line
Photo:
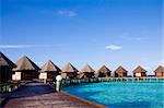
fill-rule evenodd
<path id="1" fill-rule="evenodd" d="M 74 17 L 77 16 L 77 13 L 74 11 L 67 11 L 67 10 L 60 10 L 58 11 L 59 15 L 68 16 L 68 17 Z"/>

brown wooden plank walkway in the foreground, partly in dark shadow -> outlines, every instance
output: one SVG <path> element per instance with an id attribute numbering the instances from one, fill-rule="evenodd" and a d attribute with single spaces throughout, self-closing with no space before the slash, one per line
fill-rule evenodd
<path id="1" fill-rule="evenodd" d="M 31 83 L 17 91 L 5 94 L 9 101 L 4 108 L 103 108 L 81 98 L 66 94 L 55 93 L 54 89 L 40 83 Z"/>

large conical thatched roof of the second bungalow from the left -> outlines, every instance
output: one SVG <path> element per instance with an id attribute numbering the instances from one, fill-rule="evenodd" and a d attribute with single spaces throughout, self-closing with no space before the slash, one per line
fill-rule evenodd
<path id="1" fill-rule="evenodd" d="M 39 70 L 39 68 L 26 56 L 23 56 L 16 62 L 16 68 L 13 71 L 27 71 L 27 70 Z"/>

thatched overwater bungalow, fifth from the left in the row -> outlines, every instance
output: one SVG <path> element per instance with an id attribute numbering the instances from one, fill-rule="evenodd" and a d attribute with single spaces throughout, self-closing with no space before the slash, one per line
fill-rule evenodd
<path id="1" fill-rule="evenodd" d="M 94 70 L 89 65 L 84 65 L 80 72 L 78 73 L 79 79 L 84 79 L 84 77 L 94 77 Z"/>

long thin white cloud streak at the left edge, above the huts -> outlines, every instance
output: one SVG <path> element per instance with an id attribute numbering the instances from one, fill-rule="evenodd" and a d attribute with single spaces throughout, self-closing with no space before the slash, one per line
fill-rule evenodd
<path id="1" fill-rule="evenodd" d="M 33 48 L 34 45 L 0 45 L 1 49 Z"/>

